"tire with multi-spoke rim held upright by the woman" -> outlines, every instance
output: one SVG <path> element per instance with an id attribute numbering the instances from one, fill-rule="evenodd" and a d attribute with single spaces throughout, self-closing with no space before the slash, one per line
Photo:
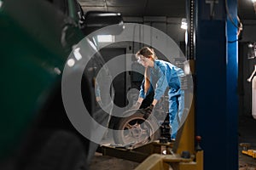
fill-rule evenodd
<path id="1" fill-rule="evenodd" d="M 127 112 L 127 115 L 129 115 L 129 112 Z M 137 111 L 131 116 L 119 119 L 115 129 L 121 131 L 114 133 L 113 139 L 116 144 L 148 144 L 160 138 L 159 127 L 154 116 L 145 120 L 143 114 Z"/>

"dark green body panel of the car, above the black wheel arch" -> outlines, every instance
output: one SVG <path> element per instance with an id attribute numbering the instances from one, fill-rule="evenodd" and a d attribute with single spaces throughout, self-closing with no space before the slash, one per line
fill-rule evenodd
<path id="1" fill-rule="evenodd" d="M 72 19 L 47 1 L 3 2 L 0 23 L 3 157 L 19 147 L 55 83 L 60 82 L 73 45 L 84 35 Z"/>

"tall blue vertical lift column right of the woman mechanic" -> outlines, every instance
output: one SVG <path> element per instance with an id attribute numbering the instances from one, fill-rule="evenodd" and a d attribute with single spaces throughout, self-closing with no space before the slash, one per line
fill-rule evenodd
<path id="1" fill-rule="evenodd" d="M 204 169 L 236 170 L 237 1 L 198 0 L 195 10 L 195 134 Z"/>

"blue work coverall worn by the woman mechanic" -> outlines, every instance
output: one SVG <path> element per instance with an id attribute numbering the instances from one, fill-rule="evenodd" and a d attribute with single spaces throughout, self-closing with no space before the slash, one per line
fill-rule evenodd
<path id="1" fill-rule="evenodd" d="M 164 60 L 154 59 L 154 68 L 150 68 L 151 86 L 148 89 L 148 93 L 144 94 L 144 79 L 139 94 L 139 97 L 145 99 L 147 95 L 152 94 L 152 91 L 154 91 L 154 99 L 160 100 L 161 96 L 165 94 L 166 88 L 169 88 L 171 139 L 176 139 L 177 130 L 180 127 L 180 121 L 183 116 L 184 91 L 181 89 L 180 81 L 180 77 L 183 75 L 183 70 L 177 66 Z"/>

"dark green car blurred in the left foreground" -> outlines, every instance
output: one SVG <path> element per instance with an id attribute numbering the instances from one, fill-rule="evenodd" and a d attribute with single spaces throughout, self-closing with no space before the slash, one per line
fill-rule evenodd
<path id="1" fill-rule="evenodd" d="M 77 133 L 61 99 L 67 57 L 90 33 L 84 23 L 75 0 L 0 0 L 1 170 L 88 168 L 97 145 Z M 94 74 L 84 71 L 83 93 L 94 90 Z M 93 115 L 96 97 L 85 98 Z"/>

